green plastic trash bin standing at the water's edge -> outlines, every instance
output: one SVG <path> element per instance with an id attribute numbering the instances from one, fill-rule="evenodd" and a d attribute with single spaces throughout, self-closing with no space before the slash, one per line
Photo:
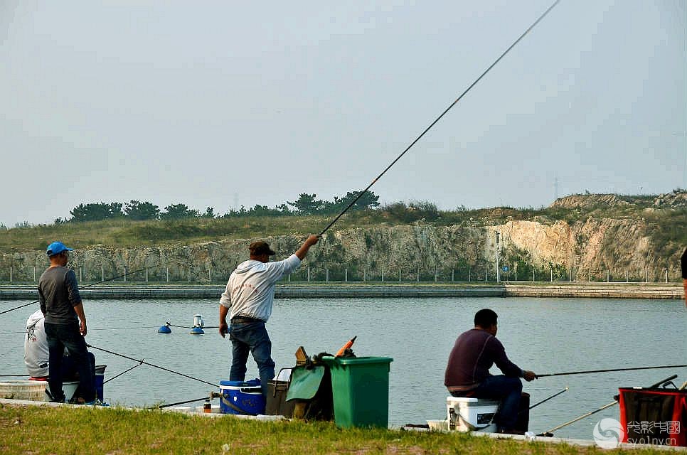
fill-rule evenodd
<path id="1" fill-rule="evenodd" d="M 337 427 L 388 427 L 389 357 L 331 357 L 322 361 L 331 372 Z"/>

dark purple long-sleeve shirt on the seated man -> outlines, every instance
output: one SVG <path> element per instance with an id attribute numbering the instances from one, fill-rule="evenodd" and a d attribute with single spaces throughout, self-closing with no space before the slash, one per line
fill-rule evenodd
<path id="1" fill-rule="evenodd" d="M 451 392 L 472 390 L 490 375 L 494 363 L 508 377 L 523 376 L 523 370 L 508 360 L 501 341 L 485 330 L 472 328 L 460 334 L 451 350 L 444 385 Z"/>

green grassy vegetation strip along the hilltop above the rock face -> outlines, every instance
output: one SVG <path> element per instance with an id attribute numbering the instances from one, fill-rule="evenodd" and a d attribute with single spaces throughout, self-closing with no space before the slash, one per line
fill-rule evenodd
<path id="1" fill-rule="evenodd" d="M 245 239 L 279 235 L 319 233 L 334 215 L 259 216 L 223 218 L 182 218 L 177 220 L 129 220 L 113 218 L 92 222 L 27 225 L 0 230 L 3 252 L 44 250 L 53 240 L 75 247 L 139 247 L 191 245 L 196 242 Z M 382 208 L 351 211 L 334 225 L 334 230 L 369 228 L 379 225 L 408 225 L 422 221 L 433 226 L 458 225 L 477 228 L 502 225 L 508 221 L 536 221 L 570 225 L 588 218 L 642 220 L 651 226 L 659 252 L 670 242 L 687 245 L 687 192 L 676 190 L 661 196 L 577 195 L 556 200 L 547 208 L 481 208 L 437 210 L 424 203 L 393 203 Z"/>

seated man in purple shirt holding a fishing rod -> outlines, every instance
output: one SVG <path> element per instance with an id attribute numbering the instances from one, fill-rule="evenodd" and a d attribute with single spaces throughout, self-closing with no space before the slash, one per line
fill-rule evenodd
<path id="1" fill-rule="evenodd" d="M 461 333 L 449 355 L 444 385 L 454 397 L 490 398 L 501 401 L 496 425 L 499 432 L 513 433 L 523 390 L 520 378 L 531 381 L 537 375 L 522 370 L 506 356 L 496 339 L 496 312 L 481 309 L 474 316 L 474 328 Z M 503 375 L 489 368 L 496 363 Z"/>

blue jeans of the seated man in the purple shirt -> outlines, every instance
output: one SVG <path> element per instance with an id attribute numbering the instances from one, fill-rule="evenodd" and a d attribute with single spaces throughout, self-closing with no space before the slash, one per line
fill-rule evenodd
<path id="1" fill-rule="evenodd" d="M 491 398 L 501 401 L 499 413 L 496 414 L 496 426 L 501 429 L 513 429 L 518 420 L 520 397 L 523 383 L 520 378 L 508 378 L 504 375 L 489 376 L 472 391 L 471 397 Z"/>

